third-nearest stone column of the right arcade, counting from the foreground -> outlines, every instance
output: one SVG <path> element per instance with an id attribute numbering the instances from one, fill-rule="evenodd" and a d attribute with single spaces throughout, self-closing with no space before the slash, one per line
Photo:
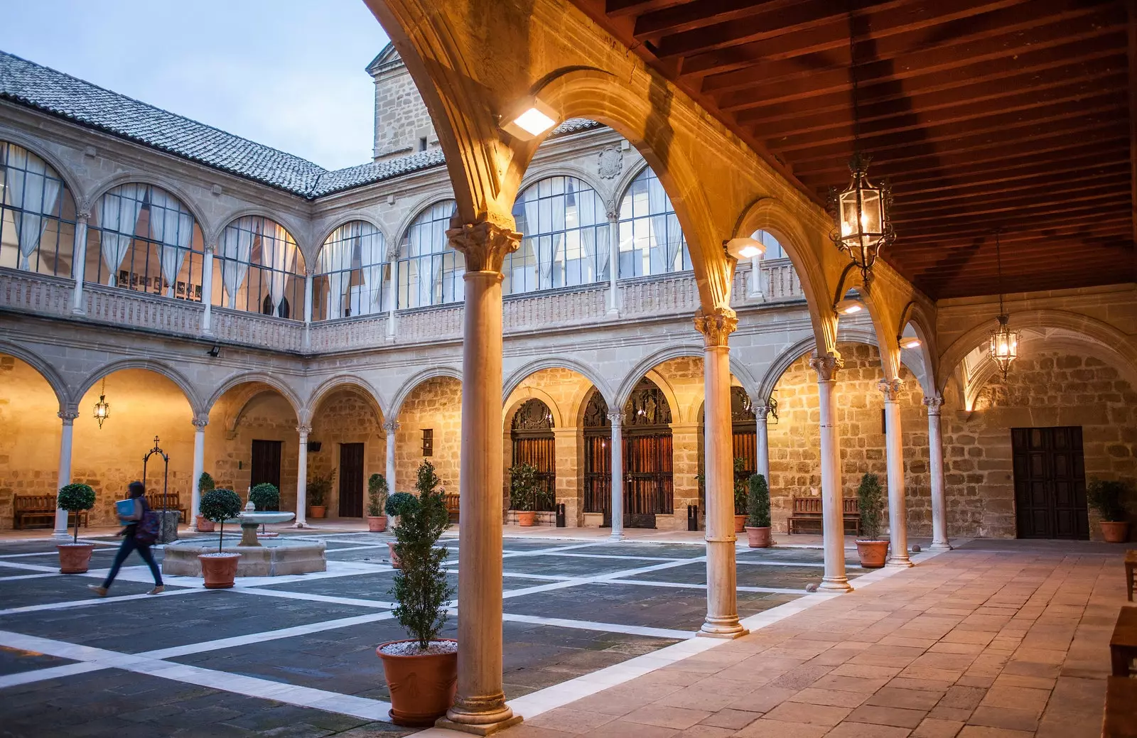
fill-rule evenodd
<path id="1" fill-rule="evenodd" d="M 825 574 L 821 589 L 849 591 L 845 575 L 845 515 L 841 496 L 841 449 L 837 433 L 838 356 L 818 356 L 810 366 L 818 373 L 818 400 L 821 408 L 821 513 L 824 532 Z"/>

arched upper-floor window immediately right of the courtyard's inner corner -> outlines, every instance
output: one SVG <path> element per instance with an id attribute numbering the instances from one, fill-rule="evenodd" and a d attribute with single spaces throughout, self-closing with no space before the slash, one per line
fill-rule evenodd
<path id="1" fill-rule="evenodd" d="M 314 321 L 381 313 L 390 302 L 387 240 L 371 223 L 351 221 L 332 231 L 319 249 L 313 283 Z"/>

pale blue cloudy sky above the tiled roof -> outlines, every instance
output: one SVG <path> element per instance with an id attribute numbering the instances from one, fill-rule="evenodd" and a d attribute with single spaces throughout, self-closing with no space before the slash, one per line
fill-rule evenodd
<path id="1" fill-rule="evenodd" d="M 329 169 L 372 158 L 387 34 L 363 0 L 0 5 L 0 50 Z"/>

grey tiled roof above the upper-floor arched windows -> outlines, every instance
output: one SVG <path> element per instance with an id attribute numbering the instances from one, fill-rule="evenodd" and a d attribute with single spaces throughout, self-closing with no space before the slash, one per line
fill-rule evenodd
<path id="1" fill-rule="evenodd" d="M 441 149 L 327 171 L 307 159 L 174 115 L 49 67 L 0 51 L 0 99 L 57 115 L 304 198 L 390 180 L 445 164 Z M 598 123 L 571 118 L 551 135 Z"/>

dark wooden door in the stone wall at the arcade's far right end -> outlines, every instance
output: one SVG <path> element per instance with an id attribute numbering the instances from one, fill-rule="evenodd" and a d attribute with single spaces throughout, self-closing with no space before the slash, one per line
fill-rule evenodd
<path id="1" fill-rule="evenodd" d="M 1081 426 L 1012 428 L 1019 538 L 1089 539 Z"/>

